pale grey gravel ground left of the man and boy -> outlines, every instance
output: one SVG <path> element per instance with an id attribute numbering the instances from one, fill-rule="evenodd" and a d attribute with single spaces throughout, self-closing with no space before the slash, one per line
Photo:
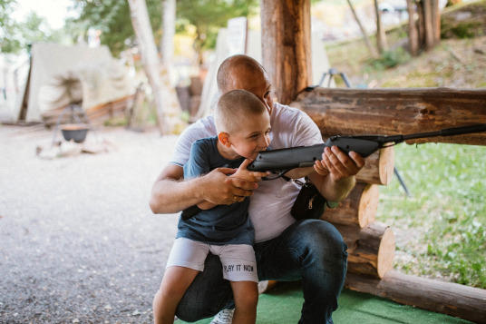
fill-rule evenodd
<path id="1" fill-rule="evenodd" d="M 177 227 L 151 185 L 176 136 L 88 134 L 109 152 L 41 159 L 52 131 L 0 125 L 0 323 L 151 323 Z"/>

